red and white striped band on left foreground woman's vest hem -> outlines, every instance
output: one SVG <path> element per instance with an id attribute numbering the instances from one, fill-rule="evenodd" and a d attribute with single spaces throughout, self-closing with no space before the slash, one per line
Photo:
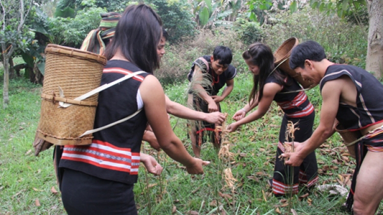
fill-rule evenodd
<path id="1" fill-rule="evenodd" d="M 62 159 L 74 160 L 109 170 L 138 174 L 140 153 L 93 140 L 87 146 L 65 146 Z"/>

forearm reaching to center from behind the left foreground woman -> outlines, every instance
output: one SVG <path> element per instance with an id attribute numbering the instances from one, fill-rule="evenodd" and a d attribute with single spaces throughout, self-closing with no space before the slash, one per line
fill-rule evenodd
<path id="1" fill-rule="evenodd" d="M 166 111 L 176 117 L 190 120 L 201 120 L 209 123 L 222 123 L 225 120 L 225 115 L 220 112 L 203 113 L 189 109 L 177 102 L 174 102 L 165 95 Z"/>

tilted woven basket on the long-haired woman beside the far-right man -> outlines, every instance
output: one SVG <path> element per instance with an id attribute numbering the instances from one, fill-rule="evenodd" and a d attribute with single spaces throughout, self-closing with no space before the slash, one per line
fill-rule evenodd
<path id="1" fill-rule="evenodd" d="M 287 39 L 280 45 L 277 50 L 274 52 L 275 66 L 279 65 L 279 69 L 283 70 L 285 73 L 297 80 L 297 82 L 302 85 L 303 88 L 313 88 L 315 85 L 308 81 L 304 80 L 302 76 L 297 74 L 293 69 L 290 69 L 289 59 L 291 52 L 295 46 L 299 44 L 298 38 L 292 37 Z"/>

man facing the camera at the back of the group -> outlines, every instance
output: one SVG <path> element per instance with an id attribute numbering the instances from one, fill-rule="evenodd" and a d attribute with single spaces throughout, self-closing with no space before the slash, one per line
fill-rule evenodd
<path id="1" fill-rule="evenodd" d="M 223 101 L 234 88 L 234 77 L 236 69 L 230 65 L 232 52 L 229 47 L 217 46 L 213 55 L 203 56 L 193 62 L 187 79 L 189 80 L 188 105 L 195 110 L 204 113 L 221 112 L 220 102 Z M 221 95 L 218 95 L 221 88 Z M 189 130 L 195 157 L 200 157 L 201 145 L 209 137 L 214 147 L 219 148 L 221 144 L 220 131 L 216 124 L 206 120 L 191 123 Z"/>

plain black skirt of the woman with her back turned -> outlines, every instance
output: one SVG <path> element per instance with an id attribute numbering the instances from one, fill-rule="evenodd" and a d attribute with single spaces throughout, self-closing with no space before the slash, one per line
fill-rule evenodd
<path id="1" fill-rule="evenodd" d="M 61 198 L 69 215 L 136 215 L 133 186 L 64 168 Z"/>

